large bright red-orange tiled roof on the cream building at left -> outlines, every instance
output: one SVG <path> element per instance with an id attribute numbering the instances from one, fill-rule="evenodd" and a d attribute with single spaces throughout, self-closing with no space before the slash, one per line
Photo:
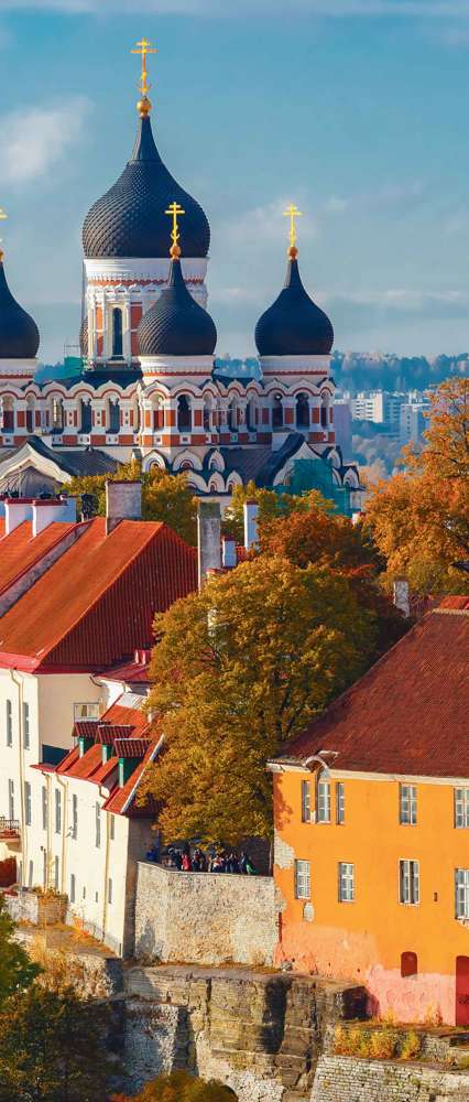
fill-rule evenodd
<path id="1" fill-rule="evenodd" d="M 197 585 L 196 552 L 162 523 L 92 520 L 0 620 L 0 665 L 96 670 L 151 644 L 156 611 Z"/>

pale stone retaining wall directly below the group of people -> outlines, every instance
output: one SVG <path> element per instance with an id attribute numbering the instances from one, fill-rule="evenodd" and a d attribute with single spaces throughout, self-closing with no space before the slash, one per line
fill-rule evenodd
<path id="1" fill-rule="evenodd" d="M 139 862 L 135 957 L 270 965 L 276 934 L 272 877 L 178 873 Z"/>

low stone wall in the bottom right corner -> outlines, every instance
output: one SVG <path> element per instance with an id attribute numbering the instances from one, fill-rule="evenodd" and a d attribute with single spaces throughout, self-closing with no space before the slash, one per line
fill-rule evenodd
<path id="1" fill-rule="evenodd" d="M 323 1056 L 310 1102 L 469 1102 L 469 1073 Z"/>

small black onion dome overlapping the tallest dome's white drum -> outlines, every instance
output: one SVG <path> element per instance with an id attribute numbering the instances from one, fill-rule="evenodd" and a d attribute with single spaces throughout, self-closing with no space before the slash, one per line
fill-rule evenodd
<path id="1" fill-rule="evenodd" d="M 140 322 L 138 341 L 141 356 L 214 355 L 215 324 L 187 290 L 176 258 L 171 261 L 167 285 Z"/>

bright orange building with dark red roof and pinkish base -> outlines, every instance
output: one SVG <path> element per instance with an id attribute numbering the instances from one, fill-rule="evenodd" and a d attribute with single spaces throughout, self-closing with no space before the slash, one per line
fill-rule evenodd
<path id="1" fill-rule="evenodd" d="M 447 598 L 270 764 L 277 962 L 469 1026 L 469 598 Z"/>

